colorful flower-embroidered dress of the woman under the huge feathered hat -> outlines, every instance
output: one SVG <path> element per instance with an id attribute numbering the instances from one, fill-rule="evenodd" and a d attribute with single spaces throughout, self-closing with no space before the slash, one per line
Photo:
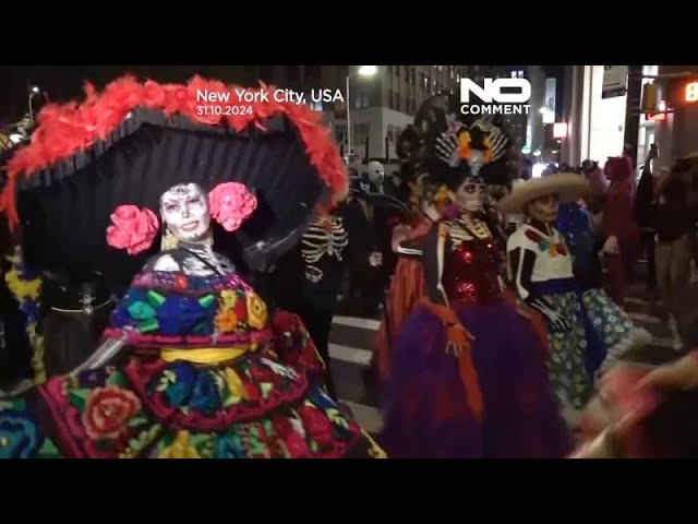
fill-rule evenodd
<path id="1" fill-rule="evenodd" d="M 2 405 L 0 457 L 383 456 L 322 389 L 274 360 L 266 306 L 236 274 L 141 273 L 106 335 L 132 348 L 130 361 Z"/>

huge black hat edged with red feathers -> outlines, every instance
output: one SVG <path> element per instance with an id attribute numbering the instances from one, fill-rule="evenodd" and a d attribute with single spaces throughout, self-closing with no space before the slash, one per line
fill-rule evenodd
<path id="1" fill-rule="evenodd" d="M 249 269 L 292 247 L 315 210 L 344 198 L 346 168 L 321 114 L 276 102 L 264 84 L 245 90 L 258 102 L 238 100 L 236 90 L 201 78 L 183 85 L 127 76 L 101 93 L 87 84 L 82 104 L 44 107 L 31 143 L 8 165 L 0 200 L 22 228 L 25 260 L 77 279 L 132 274 L 157 247 L 139 257 L 110 248 L 111 213 L 124 204 L 157 213 L 161 193 L 190 182 L 240 182 L 256 196 L 234 236 L 215 231 L 234 237 L 230 249 Z M 230 102 L 200 102 L 206 91 Z"/>

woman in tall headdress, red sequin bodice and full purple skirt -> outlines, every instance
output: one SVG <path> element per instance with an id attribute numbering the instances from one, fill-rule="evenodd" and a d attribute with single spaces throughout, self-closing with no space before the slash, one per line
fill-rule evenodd
<path id="1" fill-rule="evenodd" d="M 421 163 L 457 213 L 428 234 L 428 298 L 393 341 L 382 443 L 397 457 L 562 457 L 569 436 L 541 343 L 503 295 L 500 248 L 482 218 L 485 181 L 502 183 L 503 130 L 464 121 L 446 96 L 425 103 Z"/>

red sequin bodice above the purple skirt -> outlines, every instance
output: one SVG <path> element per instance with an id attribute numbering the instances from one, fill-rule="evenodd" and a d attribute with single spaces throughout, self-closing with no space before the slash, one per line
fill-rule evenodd
<path id="1" fill-rule="evenodd" d="M 492 238 L 464 240 L 444 259 L 442 283 L 448 300 L 491 303 L 502 298 L 501 254 Z"/>

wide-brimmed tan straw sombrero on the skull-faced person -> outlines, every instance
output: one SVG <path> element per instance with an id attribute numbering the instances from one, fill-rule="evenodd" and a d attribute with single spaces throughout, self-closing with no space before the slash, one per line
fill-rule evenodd
<path id="1" fill-rule="evenodd" d="M 589 182 L 575 172 L 558 172 L 544 178 L 532 178 L 514 186 L 497 206 L 502 213 L 524 213 L 526 204 L 545 194 L 559 194 L 561 202 L 570 202 L 591 191 Z"/>

